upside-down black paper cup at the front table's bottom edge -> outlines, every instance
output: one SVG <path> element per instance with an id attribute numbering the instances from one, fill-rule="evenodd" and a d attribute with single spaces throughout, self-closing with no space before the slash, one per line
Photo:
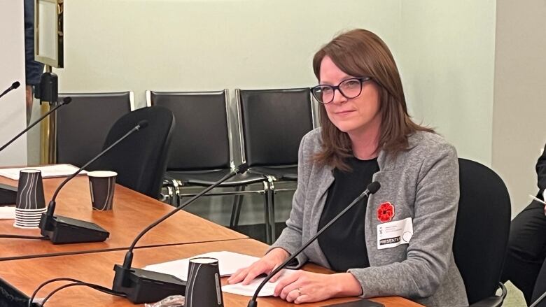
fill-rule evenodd
<path id="1" fill-rule="evenodd" d="M 185 307 L 223 307 L 218 259 L 190 259 Z"/>

